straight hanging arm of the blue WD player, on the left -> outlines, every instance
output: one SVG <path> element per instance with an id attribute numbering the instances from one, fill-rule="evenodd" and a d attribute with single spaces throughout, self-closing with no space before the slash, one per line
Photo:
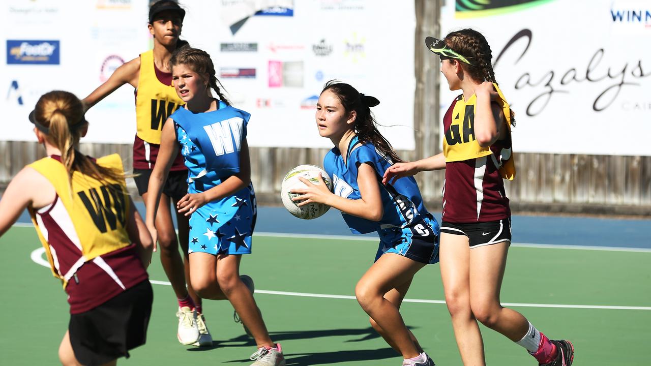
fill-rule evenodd
<path id="1" fill-rule="evenodd" d="M 154 251 L 156 251 L 156 240 L 158 240 L 158 232 L 156 232 L 156 211 L 158 211 L 158 203 L 161 199 L 163 192 L 163 184 L 167 180 L 169 169 L 171 169 L 174 159 L 178 154 L 178 143 L 176 141 L 176 133 L 174 132 L 174 120 L 168 118 L 163 124 L 163 131 L 161 132 L 161 145 L 156 157 L 156 164 L 152 174 L 149 176 L 149 185 L 147 186 L 147 200 L 146 205 L 146 219 L 145 223 L 152 235 L 154 242 Z"/>

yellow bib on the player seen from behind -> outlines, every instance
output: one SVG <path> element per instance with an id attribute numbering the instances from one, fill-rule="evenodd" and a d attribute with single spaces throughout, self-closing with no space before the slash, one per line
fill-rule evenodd
<path id="1" fill-rule="evenodd" d="M 98 165 L 124 172 L 122 159 L 118 154 L 104 156 L 97 161 Z M 57 191 L 57 199 L 66 208 L 74 231 L 79 238 L 81 257 L 67 274 L 58 274 L 48 241 L 42 235 L 36 221 L 36 213 L 29 210 L 32 221 L 38 232 L 38 237 L 45 247 L 46 255 L 55 277 L 63 281 L 63 287 L 85 262 L 100 255 L 130 246 L 131 240 L 126 231 L 126 223 L 130 212 L 130 198 L 124 179 L 119 181 L 106 180 L 100 182 L 88 175 L 75 171 L 72 175 L 72 191 L 68 184 L 68 173 L 64 165 L 53 158 L 43 158 L 32 167 L 45 176 Z"/>

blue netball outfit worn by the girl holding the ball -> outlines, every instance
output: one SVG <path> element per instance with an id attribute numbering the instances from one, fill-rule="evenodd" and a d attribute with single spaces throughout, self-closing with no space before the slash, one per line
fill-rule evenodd
<path id="1" fill-rule="evenodd" d="M 368 163 L 375 169 L 384 214 L 380 221 L 341 215 L 353 234 L 380 234 L 380 247 L 375 260 L 385 253 L 396 253 L 425 264 L 439 261 L 439 224 L 422 203 L 421 191 L 412 176 L 382 184 L 382 176 L 393 165 L 370 143 L 361 143 L 357 136 L 348 145 L 348 161 L 344 162 L 338 148 L 333 148 L 324 158 L 324 168 L 333 178 L 334 193 L 347 199 L 361 199 L 357 186 L 357 169 Z"/>

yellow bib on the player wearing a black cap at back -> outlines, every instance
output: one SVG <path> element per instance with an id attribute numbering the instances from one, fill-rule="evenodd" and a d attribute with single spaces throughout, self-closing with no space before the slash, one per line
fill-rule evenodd
<path id="1" fill-rule="evenodd" d="M 140 55 L 140 76 L 135 96 L 137 135 L 143 141 L 160 145 L 161 130 L 167 117 L 184 104 L 172 85 L 165 85 L 156 77 L 154 50 Z"/>

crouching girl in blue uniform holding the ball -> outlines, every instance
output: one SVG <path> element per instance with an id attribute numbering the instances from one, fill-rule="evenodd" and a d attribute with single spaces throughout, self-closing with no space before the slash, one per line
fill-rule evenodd
<path id="1" fill-rule="evenodd" d="M 413 275 L 438 262 L 439 225 L 422 203 L 413 178 L 383 186 L 381 175 L 401 160 L 376 128 L 370 107 L 380 104 L 351 85 L 326 83 L 316 104 L 316 125 L 335 147 L 324 158 L 335 193 L 324 182 L 292 190 L 299 206 L 323 203 L 340 210 L 353 234 L 377 231 L 374 264 L 355 287 L 373 328 L 403 357 L 402 365 L 434 365 L 400 315 Z"/>

